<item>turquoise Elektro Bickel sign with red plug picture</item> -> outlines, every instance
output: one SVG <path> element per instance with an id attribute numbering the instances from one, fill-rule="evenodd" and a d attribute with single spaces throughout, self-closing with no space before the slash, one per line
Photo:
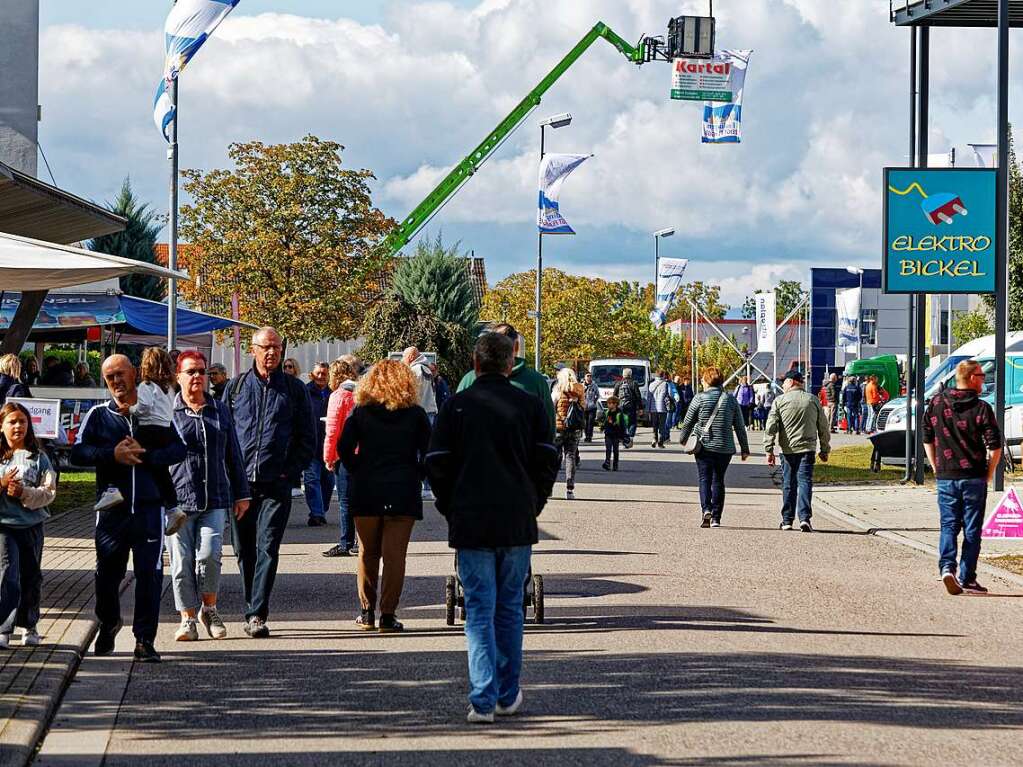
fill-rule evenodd
<path id="1" fill-rule="evenodd" d="M 994 292 L 996 175 L 885 169 L 885 292 Z"/>

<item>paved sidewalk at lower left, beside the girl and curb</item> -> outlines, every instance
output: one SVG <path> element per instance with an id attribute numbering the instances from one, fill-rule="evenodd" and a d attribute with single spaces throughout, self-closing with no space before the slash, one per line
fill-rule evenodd
<path id="1" fill-rule="evenodd" d="M 69 511 L 46 526 L 43 548 L 43 610 L 38 647 L 0 650 L 0 767 L 20 767 L 32 758 L 68 679 L 95 632 L 92 615 L 93 512 Z"/>

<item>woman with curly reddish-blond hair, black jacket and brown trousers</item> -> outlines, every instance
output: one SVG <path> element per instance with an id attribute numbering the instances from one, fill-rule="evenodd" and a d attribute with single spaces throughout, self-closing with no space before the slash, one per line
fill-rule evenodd
<path id="1" fill-rule="evenodd" d="M 356 624 L 366 631 L 376 628 L 377 583 L 380 631 L 404 628 L 395 613 L 412 526 L 422 518 L 424 459 L 430 444 L 430 420 L 418 402 L 407 365 L 377 362 L 356 387 L 355 409 L 341 435 L 339 453 L 349 475 L 350 511 L 359 538 L 362 612 Z"/>

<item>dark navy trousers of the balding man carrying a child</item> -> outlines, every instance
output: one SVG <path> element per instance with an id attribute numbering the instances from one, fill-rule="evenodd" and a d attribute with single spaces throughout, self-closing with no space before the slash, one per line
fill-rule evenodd
<path id="1" fill-rule="evenodd" d="M 160 592 L 164 585 L 164 514 L 159 505 L 126 512 L 125 505 L 98 512 L 96 518 L 96 618 L 107 628 L 121 620 L 121 582 L 131 554 L 135 571 L 135 617 L 138 641 L 157 638 Z"/>

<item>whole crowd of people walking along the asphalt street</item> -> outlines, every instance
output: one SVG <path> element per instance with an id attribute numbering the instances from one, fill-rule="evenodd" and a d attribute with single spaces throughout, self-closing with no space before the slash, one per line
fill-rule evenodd
<path id="1" fill-rule="evenodd" d="M 415 347 L 400 361 L 368 368 L 352 355 L 316 363 L 306 382 L 283 352 L 280 334 L 264 327 L 253 335 L 251 367 L 234 378 L 196 351 L 147 349 L 139 368 L 123 354 L 103 361 L 109 400 L 89 410 L 72 449 L 75 464 L 95 467 L 96 655 L 114 651 L 123 626 L 120 585 L 130 556 L 134 656 L 161 660 L 154 640 L 165 547 L 180 614 L 175 639 L 195 641 L 199 628 L 225 638 L 218 590 L 227 525 L 243 631 L 270 636 L 280 546 L 293 491 L 303 485 L 312 527 L 326 524 L 337 493 L 338 543 L 323 555 L 358 556 L 356 626 L 400 632 L 409 541 L 425 501 L 433 501 L 447 521 L 465 595 L 468 719 L 514 714 L 523 701 L 522 596 L 537 516 L 562 467 L 566 498 L 575 498 L 580 443 L 597 428 L 603 468 L 619 470 L 642 414 L 653 449 L 666 448 L 677 426 L 694 455 L 701 527 L 721 527 L 726 472 L 737 454 L 750 457 L 749 431 L 759 426 L 768 464 L 782 467 L 780 528 L 813 532 L 813 466 L 831 453 L 837 376 L 813 396 L 802 372 L 790 370 L 767 402 L 746 378 L 727 391 L 715 367 L 701 370 L 699 393 L 687 378 L 659 370 L 643 396 L 626 368 L 602 403 L 592 376 L 580 381 L 568 367 L 551 387 L 526 364 L 522 336 L 508 324 L 481 334 L 473 370 L 454 394 Z M 2 397 L 26 395 L 21 372 L 18 358 L 0 358 Z M 953 594 L 984 591 L 976 582 L 980 525 L 1002 444 L 990 406 L 979 398 L 980 366 L 964 362 L 958 373 L 959 388 L 928 403 L 924 435 L 938 478 L 940 572 Z M 880 397 L 872 385 L 871 397 Z M 858 401 L 850 402 L 854 408 Z M 43 527 L 57 492 L 28 410 L 8 402 L 0 409 L 0 646 L 15 627 L 24 644 L 40 641 Z"/>

